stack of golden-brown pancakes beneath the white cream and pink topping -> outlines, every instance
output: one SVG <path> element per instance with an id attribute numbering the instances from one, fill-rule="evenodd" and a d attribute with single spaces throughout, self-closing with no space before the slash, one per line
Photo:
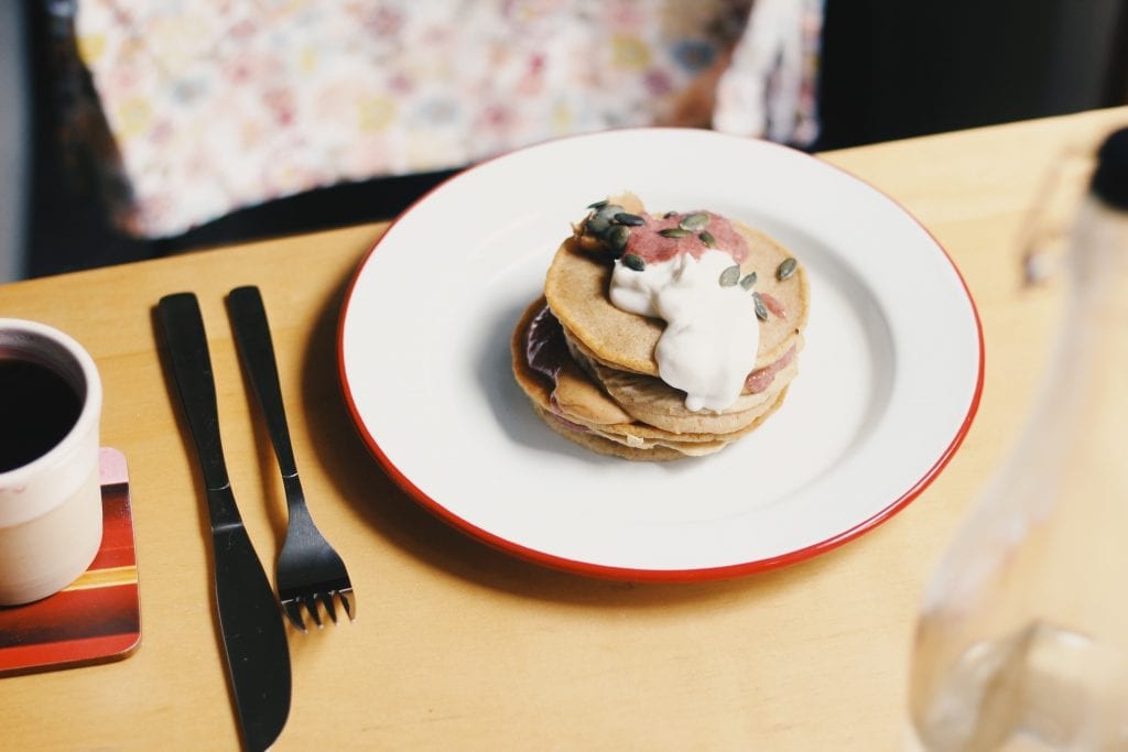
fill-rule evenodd
<path id="1" fill-rule="evenodd" d="M 610 201 L 643 213 L 631 194 Z M 732 221 L 750 251 L 741 275 L 757 273 L 750 294 L 757 293 L 759 348 L 733 405 L 693 412 L 686 408 L 686 393 L 659 377 L 654 347 L 664 322 L 610 302 L 617 254 L 600 237 L 606 233 L 588 227 L 596 214 L 593 210 L 564 240 L 544 297 L 513 331 L 513 372 L 538 415 L 581 445 L 633 460 L 710 454 L 754 431 L 783 402 L 799 370 L 808 315 L 802 266 L 788 262 L 787 249 L 767 235 Z"/>

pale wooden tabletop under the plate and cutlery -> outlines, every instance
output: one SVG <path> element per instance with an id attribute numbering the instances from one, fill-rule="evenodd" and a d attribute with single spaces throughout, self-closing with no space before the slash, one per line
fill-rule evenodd
<path id="1" fill-rule="evenodd" d="M 253 283 L 307 496 L 359 601 L 354 623 L 291 634 L 293 706 L 276 749 L 897 749 L 924 584 L 1021 425 L 1047 354 L 1060 283 L 1023 286 L 1022 253 L 1068 221 L 1089 167 L 1076 156 L 1126 123 L 1128 108 L 822 154 L 951 254 L 982 319 L 982 402 L 960 452 L 904 512 L 830 554 L 735 581 L 543 569 L 449 529 L 384 476 L 343 407 L 334 351 L 345 285 L 381 224 L 0 286 L 0 315 L 71 333 L 102 370 L 103 443 L 129 460 L 142 601 L 131 657 L 0 680 L 0 744 L 237 746 L 201 484 L 151 309 L 165 293 L 200 297 L 232 483 L 273 570 L 281 484 L 223 308 Z M 1045 200 L 1054 174 L 1061 191 Z"/>

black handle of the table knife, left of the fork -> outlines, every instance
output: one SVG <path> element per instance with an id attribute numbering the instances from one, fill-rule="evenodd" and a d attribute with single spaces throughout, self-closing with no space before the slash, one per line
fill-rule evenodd
<path id="1" fill-rule="evenodd" d="M 230 486 L 227 465 L 223 462 L 223 444 L 219 436 L 219 409 L 215 402 L 215 381 L 212 377 L 211 356 L 208 353 L 208 336 L 200 303 L 191 292 L 166 295 L 157 306 L 160 325 L 165 331 L 173 377 L 188 431 L 200 455 L 200 467 L 208 487 L 212 528 L 224 523 L 239 522 L 239 512 L 230 497 L 211 492 Z M 219 499 L 219 501 L 215 501 Z"/>

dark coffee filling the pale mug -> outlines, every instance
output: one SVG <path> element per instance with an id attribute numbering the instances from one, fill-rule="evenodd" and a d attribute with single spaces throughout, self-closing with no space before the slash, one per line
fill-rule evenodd
<path id="1" fill-rule="evenodd" d="M 79 391 L 54 369 L 0 354 L 0 472 L 46 454 L 82 410 Z"/>

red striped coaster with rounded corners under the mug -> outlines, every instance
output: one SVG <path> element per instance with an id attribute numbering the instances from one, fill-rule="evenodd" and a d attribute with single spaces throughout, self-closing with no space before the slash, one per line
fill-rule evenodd
<path id="1" fill-rule="evenodd" d="M 0 675 L 124 658 L 141 642 L 141 603 L 125 457 L 103 449 L 102 548 L 59 593 L 0 607 Z"/>

